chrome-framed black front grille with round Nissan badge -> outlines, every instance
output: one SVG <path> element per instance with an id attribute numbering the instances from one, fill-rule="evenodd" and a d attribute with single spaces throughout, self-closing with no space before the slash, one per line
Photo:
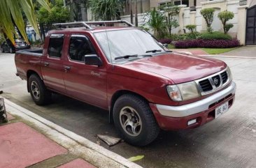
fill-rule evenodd
<path id="1" fill-rule="evenodd" d="M 227 70 L 222 70 L 208 77 L 198 79 L 195 82 L 199 87 L 201 96 L 204 96 L 226 86 L 229 83 L 229 74 Z"/>

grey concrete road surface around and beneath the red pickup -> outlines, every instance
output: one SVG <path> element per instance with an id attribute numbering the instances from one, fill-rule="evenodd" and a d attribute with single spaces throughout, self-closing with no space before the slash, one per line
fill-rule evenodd
<path id="1" fill-rule="evenodd" d="M 218 58 L 232 69 L 237 84 L 232 109 L 193 130 L 162 131 L 155 142 L 138 148 L 122 142 L 108 148 L 125 158 L 145 155 L 143 167 L 255 167 L 256 165 L 256 59 Z M 45 107 L 34 104 L 26 82 L 15 76 L 14 54 L 0 54 L 0 90 L 45 119 L 97 142 L 95 135 L 116 135 L 108 112 L 65 96 L 55 95 Z M 1 135 L 0 135 L 1 136 Z"/>

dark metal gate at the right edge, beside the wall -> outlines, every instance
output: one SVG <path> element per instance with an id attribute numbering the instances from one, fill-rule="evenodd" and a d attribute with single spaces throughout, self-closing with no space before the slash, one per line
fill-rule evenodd
<path id="1" fill-rule="evenodd" d="M 247 10 L 246 45 L 256 45 L 256 6 Z"/>

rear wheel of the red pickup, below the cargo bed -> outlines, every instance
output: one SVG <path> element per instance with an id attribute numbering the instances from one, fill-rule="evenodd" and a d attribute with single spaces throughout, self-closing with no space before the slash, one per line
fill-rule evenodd
<path id="1" fill-rule="evenodd" d="M 45 84 L 38 75 L 31 75 L 29 77 L 28 85 L 29 93 L 36 105 L 47 105 L 50 102 L 52 93 L 46 89 Z"/>

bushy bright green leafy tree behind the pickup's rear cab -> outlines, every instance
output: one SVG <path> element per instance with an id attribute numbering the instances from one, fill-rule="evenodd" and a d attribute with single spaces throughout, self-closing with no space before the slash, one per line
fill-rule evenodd
<path id="1" fill-rule="evenodd" d="M 69 20 L 69 9 L 64 7 L 62 0 L 55 0 L 55 4 L 50 3 L 50 12 L 43 6 L 38 11 L 39 23 L 51 26 L 53 23 L 61 23 Z"/>

